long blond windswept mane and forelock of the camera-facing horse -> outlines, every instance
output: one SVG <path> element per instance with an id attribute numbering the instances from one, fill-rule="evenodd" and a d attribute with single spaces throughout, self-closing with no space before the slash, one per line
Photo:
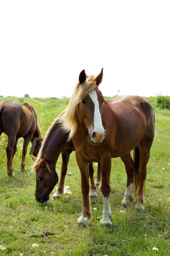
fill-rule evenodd
<path id="1" fill-rule="evenodd" d="M 87 76 L 86 81 L 82 84 L 77 83 L 74 88 L 74 92 L 68 103 L 68 107 L 65 109 L 65 113 L 58 117 L 58 122 L 61 128 L 65 132 L 69 132 L 68 141 L 72 139 L 77 130 L 77 107 L 78 104 L 96 88 L 96 80 L 93 75 Z"/>

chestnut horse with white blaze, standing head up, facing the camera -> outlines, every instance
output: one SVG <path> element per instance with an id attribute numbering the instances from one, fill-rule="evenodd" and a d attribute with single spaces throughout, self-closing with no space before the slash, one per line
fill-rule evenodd
<path id="1" fill-rule="evenodd" d="M 112 158 L 120 157 L 127 173 L 122 207 L 130 206 L 139 186 L 135 208 L 144 210 L 144 181 L 155 132 L 153 108 L 139 96 L 118 96 L 109 103 L 99 90 L 102 76 L 103 69 L 96 78 L 86 77 L 82 70 L 68 107 L 58 119 L 63 131 L 69 132 L 69 140 L 73 140 L 81 172 L 82 215 L 77 226 L 89 224 L 92 215 L 88 179 L 91 162 L 100 163 L 102 173 L 102 226 L 112 224 L 109 205 Z"/>

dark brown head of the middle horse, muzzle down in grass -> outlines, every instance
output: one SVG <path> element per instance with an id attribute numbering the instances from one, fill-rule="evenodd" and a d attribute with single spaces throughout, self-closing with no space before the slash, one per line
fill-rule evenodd
<path id="1" fill-rule="evenodd" d="M 36 191 L 35 198 L 38 202 L 46 202 L 49 195 L 58 182 L 57 172 L 49 168 L 46 155 L 41 160 L 40 166 L 36 170 Z"/>

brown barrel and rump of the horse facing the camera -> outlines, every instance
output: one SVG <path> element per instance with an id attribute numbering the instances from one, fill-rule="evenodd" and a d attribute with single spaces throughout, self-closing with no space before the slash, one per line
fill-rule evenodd
<path id="1" fill-rule="evenodd" d="M 140 96 L 118 96 L 105 102 L 102 123 L 108 130 L 107 140 L 113 142 L 113 157 L 127 154 L 143 137 L 153 141 L 155 117 L 152 105 Z"/>

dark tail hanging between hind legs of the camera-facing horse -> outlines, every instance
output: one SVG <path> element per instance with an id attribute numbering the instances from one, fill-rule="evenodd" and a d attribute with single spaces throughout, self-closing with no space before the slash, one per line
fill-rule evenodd
<path id="1" fill-rule="evenodd" d="M 140 167 L 140 152 L 138 146 L 134 148 L 133 151 L 133 162 L 134 162 L 134 184 L 135 184 L 135 191 L 134 194 L 136 195 L 136 190 L 139 186 L 139 167 Z"/>

